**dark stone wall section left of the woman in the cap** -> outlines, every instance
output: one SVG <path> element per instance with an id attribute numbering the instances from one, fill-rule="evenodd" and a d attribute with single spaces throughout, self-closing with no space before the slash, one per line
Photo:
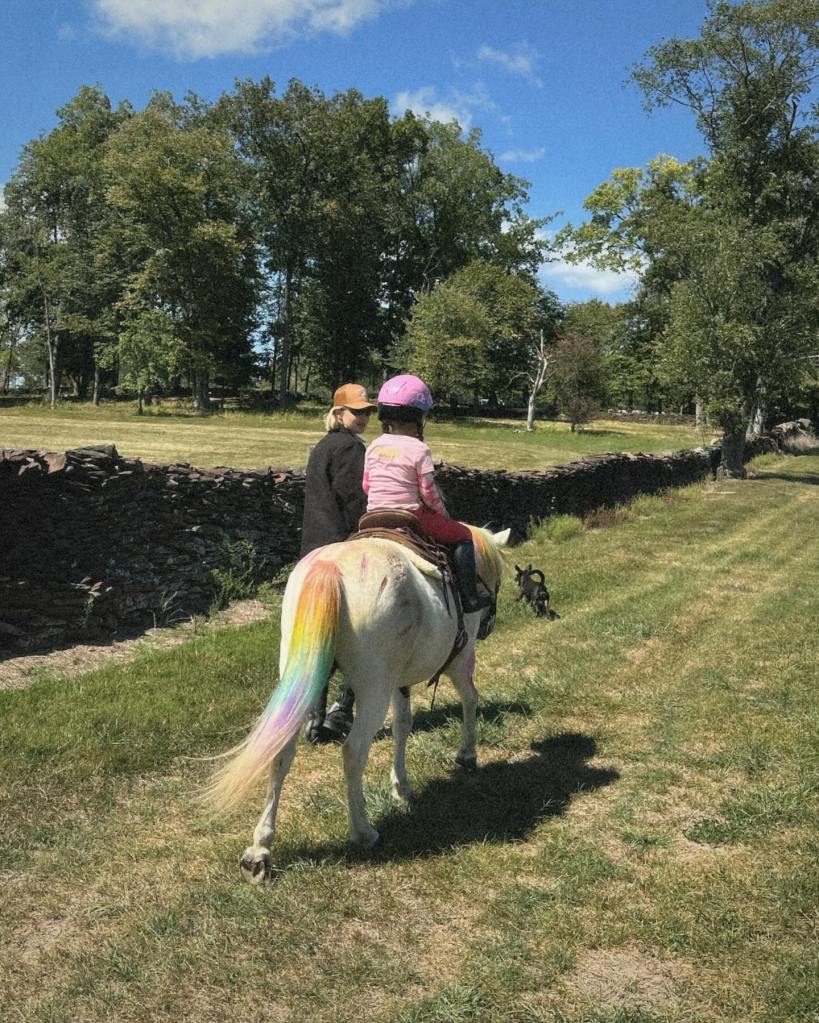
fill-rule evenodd
<path id="1" fill-rule="evenodd" d="M 304 470 L 214 471 L 0 451 L 0 649 L 146 628 L 207 611 L 214 570 L 270 578 L 299 550 Z M 241 562 L 241 564 L 238 564 Z"/>

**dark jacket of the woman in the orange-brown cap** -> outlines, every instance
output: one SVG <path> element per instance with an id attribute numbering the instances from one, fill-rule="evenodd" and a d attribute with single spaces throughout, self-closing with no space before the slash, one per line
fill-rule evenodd
<path id="1" fill-rule="evenodd" d="M 307 462 L 301 558 L 356 532 L 367 510 L 363 478 L 364 445 L 357 435 L 342 427 L 322 437 Z"/>

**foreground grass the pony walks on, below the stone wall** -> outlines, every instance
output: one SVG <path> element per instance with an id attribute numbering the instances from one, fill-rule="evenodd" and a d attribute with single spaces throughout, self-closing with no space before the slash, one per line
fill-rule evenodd
<path id="1" fill-rule="evenodd" d="M 194 794 L 266 702 L 275 615 L 0 693 L 0 1019 L 41 1023 L 815 1023 L 819 456 L 552 520 L 558 621 L 505 583 L 479 758 L 415 691 L 381 843 L 345 845 L 335 749 L 303 747 L 277 873 L 260 800 Z"/>

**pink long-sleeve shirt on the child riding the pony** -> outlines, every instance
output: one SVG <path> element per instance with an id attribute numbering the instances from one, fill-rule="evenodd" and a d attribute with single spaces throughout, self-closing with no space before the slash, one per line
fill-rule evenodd
<path id="1" fill-rule="evenodd" d="M 382 434 L 367 448 L 364 457 L 364 492 L 367 510 L 431 508 L 439 515 L 447 509 L 435 484 L 435 466 L 429 448 L 415 437 Z"/>

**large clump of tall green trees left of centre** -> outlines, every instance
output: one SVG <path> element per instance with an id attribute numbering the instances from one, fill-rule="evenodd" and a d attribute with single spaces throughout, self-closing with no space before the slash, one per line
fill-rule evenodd
<path id="1" fill-rule="evenodd" d="M 356 90 L 263 79 L 113 110 L 84 88 L 6 187 L 6 361 L 13 338 L 53 398 L 65 374 L 81 396 L 184 380 L 201 407 L 254 372 L 284 399 L 400 368 L 418 296 L 475 260 L 532 277 L 527 199 L 480 132 Z"/>

